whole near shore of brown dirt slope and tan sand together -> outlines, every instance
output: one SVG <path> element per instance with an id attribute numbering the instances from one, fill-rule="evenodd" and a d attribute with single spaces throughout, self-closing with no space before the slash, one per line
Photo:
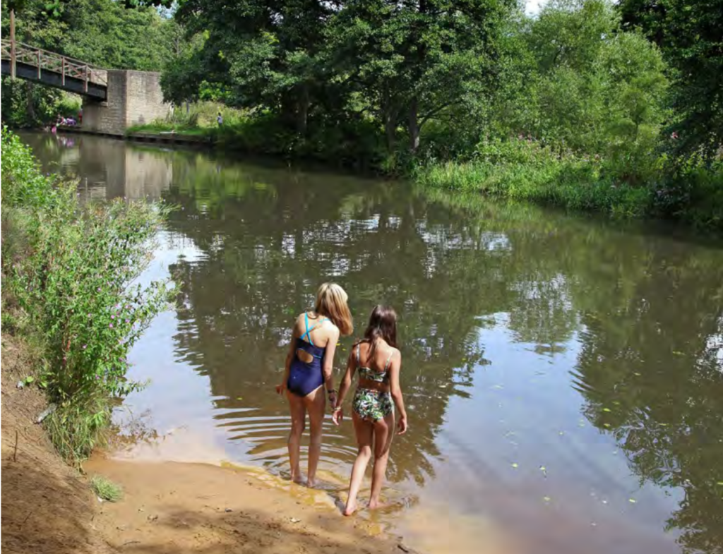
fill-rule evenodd
<path id="1" fill-rule="evenodd" d="M 33 423 L 43 395 L 15 387 L 33 364 L 27 349 L 4 336 L 1 355 L 3 553 L 401 552 L 368 522 L 341 517 L 322 491 L 279 488 L 250 470 L 98 456 L 87 474 L 124 488 L 119 503 L 100 503 Z"/>

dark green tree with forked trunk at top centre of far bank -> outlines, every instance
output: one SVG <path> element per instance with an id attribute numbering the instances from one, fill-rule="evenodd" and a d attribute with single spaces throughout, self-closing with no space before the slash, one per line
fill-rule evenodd
<path id="1" fill-rule="evenodd" d="M 388 148 L 403 122 L 416 152 L 428 121 L 495 83 L 501 32 L 514 7 L 512 0 L 344 5 L 330 25 L 337 72 L 380 116 Z"/>

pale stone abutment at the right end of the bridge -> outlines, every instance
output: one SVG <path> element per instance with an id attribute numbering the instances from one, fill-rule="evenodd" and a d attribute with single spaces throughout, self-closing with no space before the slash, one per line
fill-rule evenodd
<path id="1" fill-rule="evenodd" d="M 163 103 L 160 73 L 109 69 L 107 75 L 108 100 L 83 100 L 83 129 L 121 136 L 130 126 L 168 115 L 170 106 Z"/>

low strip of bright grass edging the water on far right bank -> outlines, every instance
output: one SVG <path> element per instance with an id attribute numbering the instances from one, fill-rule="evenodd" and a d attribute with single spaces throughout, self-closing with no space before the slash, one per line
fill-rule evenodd
<path id="1" fill-rule="evenodd" d="M 664 218 L 723 230 L 722 168 L 662 173 L 654 186 L 625 183 L 605 175 L 599 165 L 565 159 L 544 165 L 447 162 L 421 165 L 413 175 L 429 189 L 478 191 L 612 217 Z"/>

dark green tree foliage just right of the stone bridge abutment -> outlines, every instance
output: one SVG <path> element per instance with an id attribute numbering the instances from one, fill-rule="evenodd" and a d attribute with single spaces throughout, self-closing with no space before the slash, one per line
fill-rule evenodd
<path id="1" fill-rule="evenodd" d="M 333 3 L 315 0 L 234 5 L 223 0 L 182 1 L 176 19 L 192 35 L 205 33 L 191 71 L 180 72 L 189 81 L 184 89 L 197 89 L 202 80 L 220 83 L 227 87 L 231 105 L 270 108 L 304 134 L 309 109 L 328 82 L 320 55 L 334 9 Z M 204 68 L 203 74 L 198 67 Z"/>

